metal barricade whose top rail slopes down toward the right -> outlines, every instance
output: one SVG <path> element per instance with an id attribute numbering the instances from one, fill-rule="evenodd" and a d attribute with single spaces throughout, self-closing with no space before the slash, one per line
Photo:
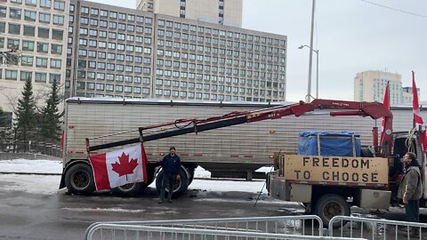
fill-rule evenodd
<path id="1" fill-rule="evenodd" d="M 280 240 L 280 239 L 333 239 L 333 240 L 356 240 L 362 238 L 329 237 L 329 236 L 302 236 L 288 234 L 260 233 L 238 230 L 213 230 L 200 228 L 169 228 L 139 225 L 123 225 L 111 223 L 98 223 L 86 231 L 85 239 L 93 240 L 94 234 L 99 231 L 102 240 L 117 239 L 147 239 L 147 240 Z"/>

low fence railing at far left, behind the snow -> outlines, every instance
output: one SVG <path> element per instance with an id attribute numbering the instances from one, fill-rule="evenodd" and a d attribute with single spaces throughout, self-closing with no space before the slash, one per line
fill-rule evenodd
<path id="1" fill-rule="evenodd" d="M 39 153 L 61 157 L 60 144 L 36 141 L 0 141 L 0 151 L 8 153 Z"/>

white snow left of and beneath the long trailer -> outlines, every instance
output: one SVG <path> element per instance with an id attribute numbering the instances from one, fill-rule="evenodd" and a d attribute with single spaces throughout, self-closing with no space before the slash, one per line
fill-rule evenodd
<path id="1" fill-rule="evenodd" d="M 0 172 L 30 172 L 30 173 L 58 173 L 62 172 L 62 162 L 54 160 L 0 160 Z M 262 171 L 264 172 L 264 171 Z M 209 179 L 211 172 L 198 167 L 195 178 L 189 186 L 189 190 L 197 189 L 202 191 L 228 192 L 243 191 L 258 193 L 261 191 L 264 181 L 254 180 L 215 180 Z M 205 179 L 205 180 L 204 180 Z M 60 185 L 60 175 L 32 175 L 32 174 L 0 174 L 2 184 L 0 190 L 22 189 L 28 193 L 52 194 L 57 192 Z M 43 188 L 40 188 L 43 186 Z M 155 188 L 153 182 L 150 187 Z M 266 192 L 265 187 L 263 192 Z"/>

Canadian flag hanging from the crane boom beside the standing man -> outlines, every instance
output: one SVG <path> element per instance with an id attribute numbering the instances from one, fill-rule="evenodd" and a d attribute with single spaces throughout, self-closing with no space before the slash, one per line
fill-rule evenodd
<path id="1" fill-rule="evenodd" d="M 142 143 L 131 148 L 89 156 L 97 190 L 147 182 L 147 156 Z"/>

